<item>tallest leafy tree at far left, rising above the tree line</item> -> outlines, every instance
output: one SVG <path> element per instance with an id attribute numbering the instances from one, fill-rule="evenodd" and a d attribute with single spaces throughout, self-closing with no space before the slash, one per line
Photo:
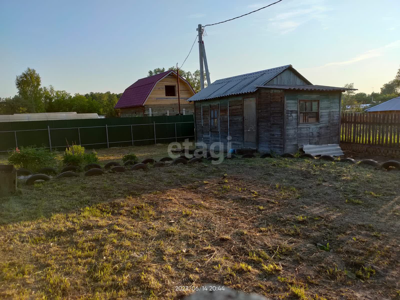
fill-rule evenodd
<path id="1" fill-rule="evenodd" d="M 27 107 L 28 112 L 44 112 L 40 84 L 40 76 L 34 69 L 27 68 L 21 75 L 16 76 L 15 86 L 18 95 L 30 104 Z"/>

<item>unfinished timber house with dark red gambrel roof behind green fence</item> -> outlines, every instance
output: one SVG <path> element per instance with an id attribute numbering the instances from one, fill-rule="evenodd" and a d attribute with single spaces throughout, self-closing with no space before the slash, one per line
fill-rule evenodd
<path id="1" fill-rule="evenodd" d="M 120 110 L 121 117 L 134 116 L 175 116 L 178 109 L 178 82 L 174 70 L 137 80 L 126 88 L 114 109 Z M 180 113 L 193 114 L 192 103 L 187 102 L 196 94 L 182 76 L 179 76 Z"/>

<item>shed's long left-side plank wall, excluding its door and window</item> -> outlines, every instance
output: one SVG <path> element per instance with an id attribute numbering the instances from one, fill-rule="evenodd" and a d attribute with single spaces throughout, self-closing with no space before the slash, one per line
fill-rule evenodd
<path id="1" fill-rule="evenodd" d="M 243 148 L 243 99 L 255 97 L 257 111 L 257 142 L 260 152 L 283 153 L 284 93 L 282 90 L 259 89 L 258 92 L 224 97 L 220 100 L 196 101 L 196 137 L 198 142 L 221 143 L 227 149 Z M 210 105 L 219 104 L 220 131 L 210 132 Z M 229 107 L 228 107 L 229 106 Z M 229 122 L 228 122 L 229 120 Z M 215 144 L 214 144 L 215 145 Z M 217 149 L 217 148 L 215 148 Z"/>

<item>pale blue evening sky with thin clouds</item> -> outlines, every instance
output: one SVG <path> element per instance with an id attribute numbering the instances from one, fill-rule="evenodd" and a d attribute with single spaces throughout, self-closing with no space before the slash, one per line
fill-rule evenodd
<path id="1" fill-rule="evenodd" d="M 1 0 L 0 97 L 16 94 L 27 67 L 72 94 L 123 92 L 150 69 L 182 64 L 197 24 L 272 2 Z M 399 15 L 395 0 L 283 0 L 206 28 L 211 81 L 292 64 L 313 84 L 379 91 L 400 65 Z M 198 68 L 196 43 L 183 69 Z"/>

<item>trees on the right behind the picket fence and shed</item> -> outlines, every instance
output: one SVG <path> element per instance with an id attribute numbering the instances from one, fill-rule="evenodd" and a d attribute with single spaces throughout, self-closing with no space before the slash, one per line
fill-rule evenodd
<path id="1" fill-rule="evenodd" d="M 354 88 L 354 84 L 345 84 L 344 88 Z M 368 107 L 372 107 L 398 96 L 400 96 L 400 68 L 394 79 L 385 83 L 382 88 L 380 88 L 380 92 L 372 92 L 370 95 L 366 93 L 356 93 L 354 91 L 342 93 L 342 111 L 363 112 L 364 108 L 362 104 L 369 104 Z"/>

